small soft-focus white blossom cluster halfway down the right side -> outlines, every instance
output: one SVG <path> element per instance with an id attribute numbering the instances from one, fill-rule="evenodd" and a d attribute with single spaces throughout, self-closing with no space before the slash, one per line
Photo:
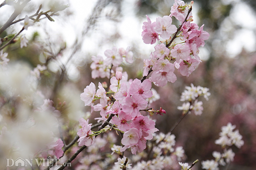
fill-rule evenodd
<path id="1" fill-rule="evenodd" d="M 182 110 L 183 113 L 187 113 L 188 111 L 193 111 L 195 115 L 201 115 L 202 114 L 202 101 L 198 101 L 197 98 L 199 96 L 204 96 L 204 98 L 208 101 L 208 97 L 211 95 L 208 88 L 203 88 L 201 86 L 194 86 L 191 83 L 191 86 L 186 86 L 186 90 L 182 92 L 182 95 L 180 97 L 180 101 L 188 101 L 184 102 L 182 106 L 178 106 L 178 110 Z M 194 101 L 194 102 L 193 102 Z"/>

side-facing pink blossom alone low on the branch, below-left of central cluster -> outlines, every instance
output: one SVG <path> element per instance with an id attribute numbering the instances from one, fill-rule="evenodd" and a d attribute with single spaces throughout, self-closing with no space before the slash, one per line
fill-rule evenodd
<path id="1" fill-rule="evenodd" d="M 85 119 L 80 118 L 79 123 L 82 126 L 81 129 L 78 130 L 77 135 L 79 136 L 78 139 L 78 146 L 91 146 L 92 144 L 95 143 L 95 137 L 94 136 L 89 136 L 92 134 L 91 132 L 91 125 L 89 124 L 89 119 L 85 121 Z"/>

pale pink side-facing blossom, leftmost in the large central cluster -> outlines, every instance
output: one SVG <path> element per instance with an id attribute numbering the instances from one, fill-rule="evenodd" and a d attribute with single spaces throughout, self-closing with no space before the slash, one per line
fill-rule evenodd
<path id="1" fill-rule="evenodd" d="M 80 98 L 84 102 L 85 106 L 91 105 L 91 102 L 94 99 L 96 87 L 93 82 L 90 83 L 89 86 L 86 86 L 86 88 L 83 90 L 84 92 L 81 93 Z"/>

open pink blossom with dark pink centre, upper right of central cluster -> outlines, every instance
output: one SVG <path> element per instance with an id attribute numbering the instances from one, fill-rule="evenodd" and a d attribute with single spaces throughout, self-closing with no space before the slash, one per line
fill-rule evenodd
<path id="1" fill-rule="evenodd" d="M 141 83 L 141 80 L 135 79 L 130 85 L 129 93 L 132 97 L 140 96 L 143 97 L 143 99 L 147 99 L 153 95 L 153 92 L 150 91 L 151 87 L 150 80 L 146 79 Z"/>

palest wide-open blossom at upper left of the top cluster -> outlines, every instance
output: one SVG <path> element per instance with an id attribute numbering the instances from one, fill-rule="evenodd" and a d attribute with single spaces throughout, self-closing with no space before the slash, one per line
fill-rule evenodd
<path id="1" fill-rule="evenodd" d="M 171 34 L 177 31 L 177 27 L 172 25 L 172 21 L 170 16 L 156 18 L 156 33 L 160 34 L 161 38 L 167 40 L 171 37 Z"/>

